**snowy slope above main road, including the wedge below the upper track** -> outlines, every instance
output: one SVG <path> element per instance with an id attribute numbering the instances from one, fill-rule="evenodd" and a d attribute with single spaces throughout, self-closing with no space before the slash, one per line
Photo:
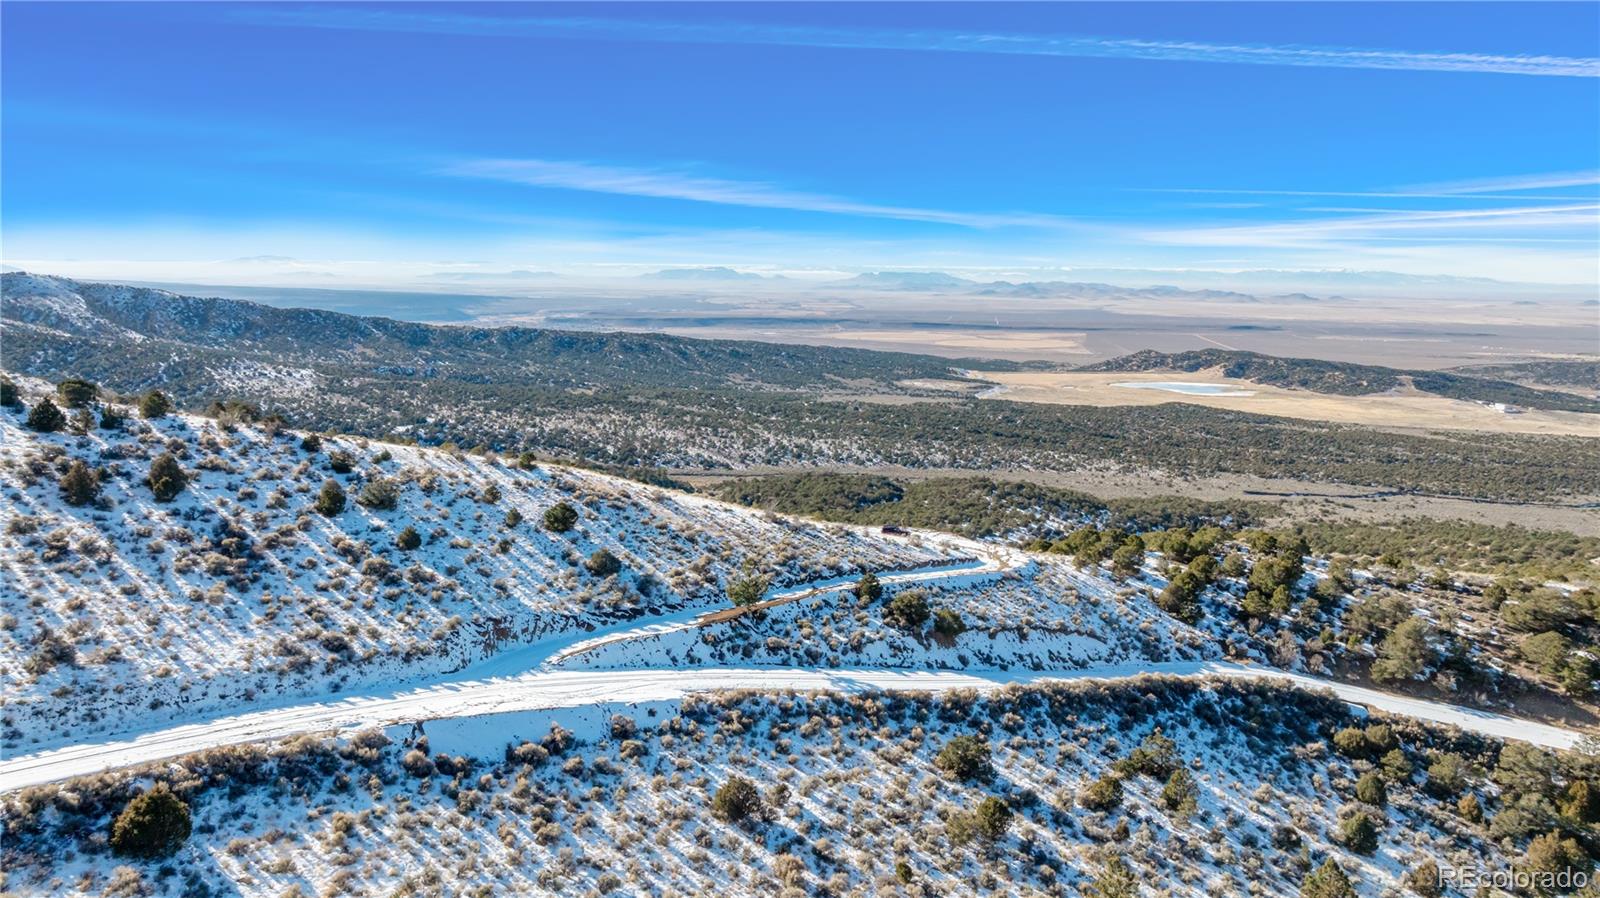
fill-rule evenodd
<path id="1" fill-rule="evenodd" d="M 24 400 L 46 389 L 29 383 Z M 933 568 L 917 587 L 965 631 L 886 623 L 909 584 L 874 603 L 843 583 L 565 663 L 1038 671 L 1216 653 L 1142 592 L 1064 560 L 1008 551 L 1018 559 L 994 565 L 978 555 L 1000 549 L 970 541 L 779 519 L 582 469 L 122 415 L 115 427 L 38 434 L 22 410 L 0 410 L 6 748 L 440 682 L 469 666 L 518 674 L 546 661 L 522 647 L 626 621 L 699 623 L 694 613 L 728 607 L 728 583 L 744 578 L 782 595 Z M 163 456 L 187 479 L 168 501 L 150 483 Z M 74 493 L 80 467 L 93 485 Z M 318 511 L 328 483 L 339 511 Z M 552 531 L 544 515 L 562 503 L 576 523 Z M 963 557 L 973 575 L 941 573 Z"/>

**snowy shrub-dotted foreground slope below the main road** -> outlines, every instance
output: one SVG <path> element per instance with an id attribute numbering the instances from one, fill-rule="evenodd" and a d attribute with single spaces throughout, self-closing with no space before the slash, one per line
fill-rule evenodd
<path id="1" fill-rule="evenodd" d="M 1296 895 L 1331 861 L 1354 895 L 1376 896 L 1437 880 L 1435 868 L 1518 860 L 1461 808 L 1467 796 L 1507 794 L 1488 772 L 1504 781 L 1538 754 L 1366 724 L 1328 696 L 1158 677 L 435 720 L 11 796 L 8 887 L 1243 898 Z M 1389 754 L 1378 764 L 1334 751 L 1352 733 L 1362 752 Z M 949 760 L 962 740 L 971 764 Z M 1464 773 L 1442 765 L 1446 756 Z M 1544 764 L 1518 791 L 1560 788 Z M 718 804 L 736 778 L 749 800 Z M 195 834 L 165 868 L 176 874 L 106 847 L 110 816 L 155 780 L 194 813 Z M 1118 866 L 1130 890 L 1096 892 L 1118 882 Z"/>

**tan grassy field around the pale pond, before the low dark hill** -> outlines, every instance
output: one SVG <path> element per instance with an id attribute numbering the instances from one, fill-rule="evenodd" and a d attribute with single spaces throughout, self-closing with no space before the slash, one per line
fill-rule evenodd
<path id="1" fill-rule="evenodd" d="M 1330 395 L 1224 378 L 1211 371 L 995 371 L 984 373 L 984 379 L 1002 387 L 998 392 L 987 394 L 990 399 L 1014 402 L 1094 407 L 1184 402 L 1208 408 L 1373 427 L 1600 437 L 1600 415 L 1536 410 L 1507 415 L 1477 402 L 1445 399 L 1419 391 Z M 1126 383 L 1203 383 L 1222 384 L 1229 389 L 1216 395 L 1195 395 L 1115 386 Z"/>

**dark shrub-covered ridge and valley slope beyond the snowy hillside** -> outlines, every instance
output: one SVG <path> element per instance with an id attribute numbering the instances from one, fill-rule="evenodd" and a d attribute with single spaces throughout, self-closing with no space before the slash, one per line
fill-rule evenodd
<path id="1" fill-rule="evenodd" d="M 1488 499 L 1600 495 L 1594 443 L 1579 437 L 952 399 L 906 386 L 952 376 L 950 360 L 923 355 L 413 325 L 21 274 L 3 288 L 8 370 L 118 394 L 158 387 L 190 410 L 243 400 L 310 431 L 630 469 L 1158 469 Z"/>

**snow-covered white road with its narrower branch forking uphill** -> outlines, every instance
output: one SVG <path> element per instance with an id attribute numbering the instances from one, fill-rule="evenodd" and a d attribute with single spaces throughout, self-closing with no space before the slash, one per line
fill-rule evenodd
<path id="1" fill-rule="evenodd" d="M 1024 552 L 998 551 L 965 539 L 938 535 L 950 546 L 968 549 L 968 557 L 979 562 L 954 563 L 917 571 L 885 575 L 886 583 L 920 583 L 957 576 L 992 576 L 1030 563 Z M 974 549 L 976 547 L 976 549 Z M 846 589 L 853 581 L 832 581 L 792 587 L 774 594 L 768 602 L 781 603 L 835 589 Z M 558 647 L 539 647 L 539 653 L 520 655 L 520 671 L 512 676 L 496 676 L 506 669 L 504 661 L 472 667 L 458 677 L 410 692 L 392 695 L 365 695 L 309 701 L 293 708 L 274 708 L 179 725 L 142 735 L 114 736 L 102 741 L 80 743 L 66 748 L 40 751 L 0 760 L 0 792 L 13 792 L 114 770 L 165 760 L 197 751 L 222 746 L 283 740 L 302 733 L 354 730 L 363 727 L 387 727 L 411 720 L 442 717 L 474 717 L 510 711 L 538 711 L 573 708 L 582 704 L 667 701 L 682 700 L 691 693 L 715 690 L 904 690 L 938 692 L 950 688 L 994 690 L 1010 684 L 1117 680 L 1144 674 L 1179 677 L 1250 677 L 1286 680 L 1306 688 L 1331 690 L 1344 701 L 1390 714 L 1403 714 L 1435 724 L 1448 724 L 1502 740 L 1522 740 L 1533 744 L 1570 749 L 1584 733 L 1563 730 L 1502 714 L 1491 714 L 1454 704 L 1424 701 L 1390 695 L 1365 687 L 1322 680 L 1275 667 L 1235 664 L 1227 661 L 1173 661 L 1131 663 L 1109 667 L 1051 672 L 1006 671 L 896 671 L 896 669 L 813 669 L 813 667 L 706 667 L 664 671 L 568 671 L 552 669 L 549 663 L 560 661 L 576 651 L 594 648 L 621 639 L 662 632 L 662 627 L 678 629 L 702 626 L 706 615 L 677 615 L 670 621 L 634 624 L 626 629 L 587 635 Z M 534 669 L 530 669 L 534 667 Z"/>

